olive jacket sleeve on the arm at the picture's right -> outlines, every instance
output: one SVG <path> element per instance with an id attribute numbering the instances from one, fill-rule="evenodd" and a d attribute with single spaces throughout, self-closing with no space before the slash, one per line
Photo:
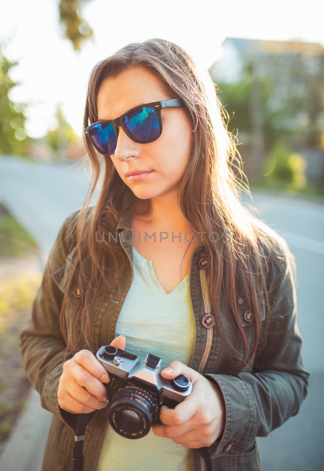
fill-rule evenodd
<path id="1" fill-rule="evenodd" d="M 284 259 L 272 260 L 272 269 L 269 333 L 252 372 L 203 374 L 219 385 L 226 405 L 221 437 L 208 447 L 212 459 L 252 448 L 256 437 L 266 437 L 296 415 L 308 393 L 292 268 Z"/>

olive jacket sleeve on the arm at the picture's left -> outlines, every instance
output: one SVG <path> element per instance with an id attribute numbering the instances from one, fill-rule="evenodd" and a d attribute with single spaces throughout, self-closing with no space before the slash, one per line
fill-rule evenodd
<path id="1" fill-rule="evenodd" d="M 63 292 L 55 284 L 52 273 L 65 264 L 71 251 L 73 241 L 70 223 L 77 212 L 66 218 L 59 230 L 32 304 L 32 316 L 20 332 L 20 355 L 25 374 L 33 388 L 40 393 L 41 406 L 52 412 L 57 421 L 65 422 L 73 430 L 77 425 L 78 414 L 61 409 L 57 399 L 66 343 L 59 323 Z M 72 357 L 68 354 L 66 360 Z M 89 414 L 89 421 L 96 412 Z"/>

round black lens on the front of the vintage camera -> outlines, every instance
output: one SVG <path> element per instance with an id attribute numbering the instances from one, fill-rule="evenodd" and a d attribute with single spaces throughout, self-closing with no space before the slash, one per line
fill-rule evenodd
<path id="1" fill-rule="evenodd" d="M 139 439 L 158 416 L 158 403 L 148 391 L 126 386 L 115 394 L 108 414 L 111 427 L 122 437 Z"/>

